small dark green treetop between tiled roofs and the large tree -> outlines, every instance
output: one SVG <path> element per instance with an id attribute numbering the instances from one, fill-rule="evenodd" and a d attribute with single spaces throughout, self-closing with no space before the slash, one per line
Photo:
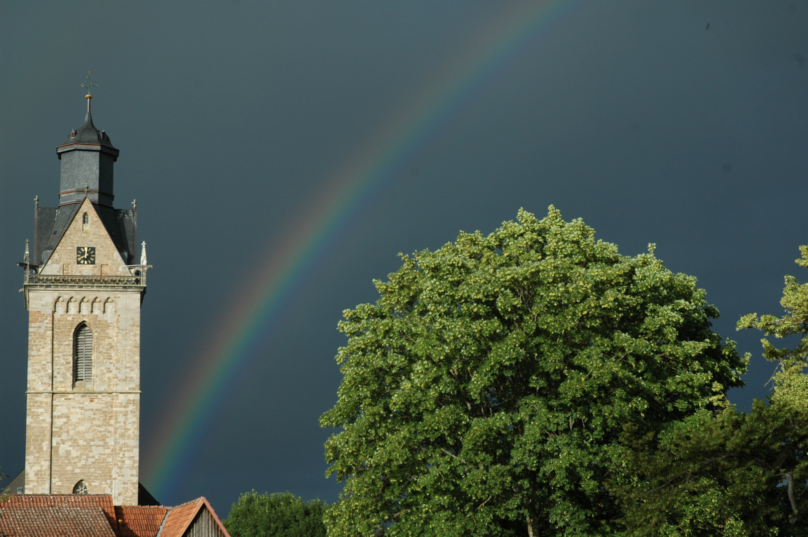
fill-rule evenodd
<path id="1" fill-rule="evenodd" d="M 223 523 L 232 537 L 325 537 L 325 504 L 291 493 L 243 493 Z"/>

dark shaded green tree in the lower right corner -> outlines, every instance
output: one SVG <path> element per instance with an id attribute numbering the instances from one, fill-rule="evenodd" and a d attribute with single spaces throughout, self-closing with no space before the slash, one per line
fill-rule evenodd
<path id="1" fill-rule="evenodd" d="M 755 401 L 750 414 L 731 405 L 698 410 L 635 443 L 609 487 L 625 534 L 806 535 L 789 507 L 789 499 L 806 499 L 806 426 L 804 411 L 773 396 L 769 405 Z"/>

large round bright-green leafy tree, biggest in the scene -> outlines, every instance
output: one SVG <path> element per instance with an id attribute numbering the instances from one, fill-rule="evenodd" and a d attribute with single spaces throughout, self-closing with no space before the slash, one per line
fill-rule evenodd
<path id="1" fill-rule="evenodd" d="M 329 535 L 619 531 L 605 485 L 625 427 L 710 408 L 745 367 L 696 279 L 653 250 L 623 256 L 551 206 L 401 256 L 339 324 Z"/>

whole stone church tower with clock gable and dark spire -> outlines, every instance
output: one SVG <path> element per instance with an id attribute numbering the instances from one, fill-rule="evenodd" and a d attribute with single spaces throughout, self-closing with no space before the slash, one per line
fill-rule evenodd
<path id="1" fill-rule="evenodd" d="M 88 90 L 90 84 L 87 84 Z M 25 493 L 112 494 L 137 505 L 141 302 L 137 205 L 112 205 L 118 158 L 87 112 L 57 147 L 58 207 L 34 209 L 28 310 Z"/>

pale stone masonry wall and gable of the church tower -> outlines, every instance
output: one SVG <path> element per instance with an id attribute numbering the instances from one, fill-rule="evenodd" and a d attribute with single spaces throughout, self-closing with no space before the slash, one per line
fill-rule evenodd
<path id="1" fill-rule="evenodd" d="M 88 202 L 40 274 L 128 275 Z M 89 223 L 82 223 L 87 212 Z M 95 265 L 77 265 L 76 247 L 95 246 Z M 71 264 L 72 261 L 72 264 Z M 137 505 L 141 290 L 32 287 L 27 291 L 28 387 L 25 493 L 90 493 Z M 74 382 L 74 334 L 93 333 L 91 381 Z"/>

